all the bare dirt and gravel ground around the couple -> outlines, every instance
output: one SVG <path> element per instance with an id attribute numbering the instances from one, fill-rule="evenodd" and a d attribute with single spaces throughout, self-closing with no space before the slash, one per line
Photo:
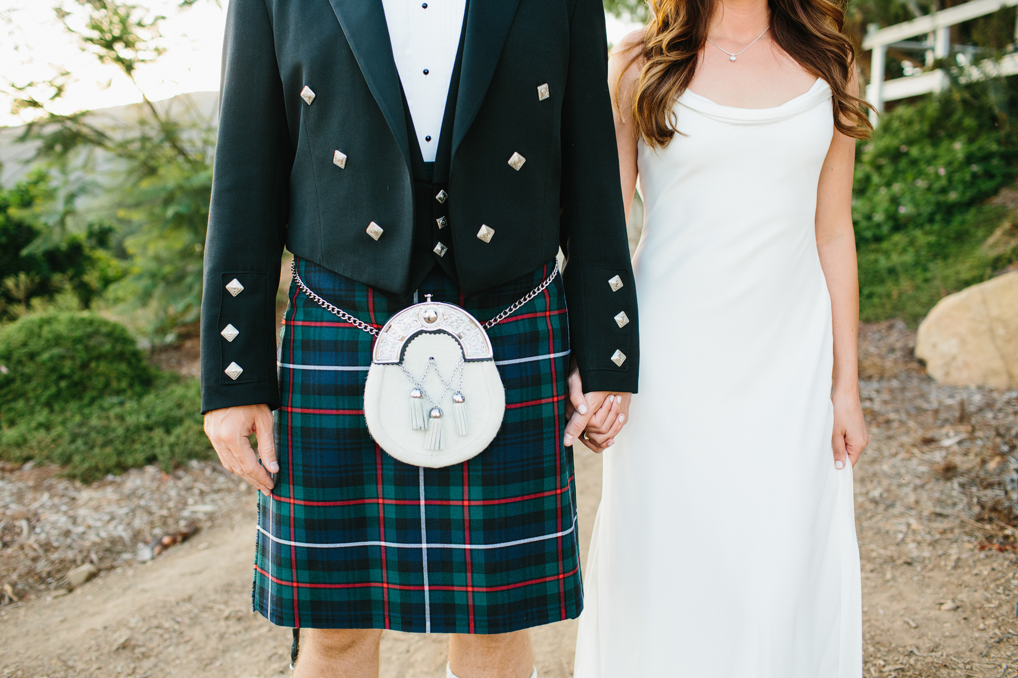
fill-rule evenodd
<path id="1" fill-rule="evenodd" d="M 862 329 L 864 673 L 1018 678 L 1018 391 L 938 385 L 913 345 L 898 322 Z M 585 542 L 600 459 L 577 459 Z M 58 471 L 0 466 L 3 676 L 285 673 L 285 630 L 247 607 L 253 491 L 213 462 L 92 486 Z M 98 579 L 67 596 L 66 573 L 90 562 Z M 543 676 L 571 675 L 574 632 L 535 631 Z M 444 675 L 444 642 L 387 634 L 382 675 Z"/>

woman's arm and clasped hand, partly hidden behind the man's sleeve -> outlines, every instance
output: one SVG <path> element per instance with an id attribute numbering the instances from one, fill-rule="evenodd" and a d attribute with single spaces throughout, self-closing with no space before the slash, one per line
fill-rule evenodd
<path id="1" fill-rule="evenodd" d="M 615 111 L 615 139 L 619 146 L 619 177 L 622 180 L 622 200 L 628 217 L 636 191 L 636 126 L 632 124 L 630 112 L 633 86 L 639 77 L 639 66 L 632 62 L 633 49 L 642 41 L 642 32 L 626 36 L 612 50 L 608 61 L 608 83 L 612 93 L 612 108 Z M 579 374 L 573 371 L 569 379 L 571 401 L 582 401 L 582 385 Z M 603 452 L 615 444 L 615 436 L 622 430 L 629 417 L 630 394 L 619 399 L 606 399 L 586 425 L 587 438 L 583 444 L 595 452 Z M 571 408 L 570 408 L 571 410 Z M 572 412 L 569 412 L 572 415 Z"/>

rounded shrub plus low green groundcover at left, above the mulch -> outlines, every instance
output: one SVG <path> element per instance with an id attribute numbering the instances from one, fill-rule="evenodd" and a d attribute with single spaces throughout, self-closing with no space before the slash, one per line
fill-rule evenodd
<path id="1" fill-rule="evenodd" d="M 150 368 L 121 325 L 27 316 L 0 331 L 0 458 L 92 482 L 209 456 L 197 381 Z"/>

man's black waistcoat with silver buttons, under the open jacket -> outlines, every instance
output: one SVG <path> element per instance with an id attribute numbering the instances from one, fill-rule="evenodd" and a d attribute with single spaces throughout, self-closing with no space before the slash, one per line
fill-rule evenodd
<path id="1" fill-rule="evenodd" d="M 463 66 L 463 44 L 466 40 L 466 15 L 470 11 L 467 0 L 463 12 L 463 29 L 460 32 L 459 48 L 452 77 L 449 80 L 449 95 L 446 99 L 442 130 L 438 139 L 435 162 L 426 163 L 413 126 L 413 117 L 403 93 L 403 115 L 406 117 L 406 134 L 410 142 L 410 169 L 413 172 L 413 245 L 410 249 L 410 288 L 416 289 L 436 264 L 457 284 L 455 252 L 452 245 L 452 226 L 449 222 L 449 208 L 445 199 L 449 190 L 449 166 L 452 164 L 452 130 L 456 117 L 456 100 L 459 92 L 459 76 Z M 402 89 L 402 87 L 400 88 Z M 441 199 L 441 200 L 440 200 Z M 441 246 L 440 246 L 441 245 Z"/>

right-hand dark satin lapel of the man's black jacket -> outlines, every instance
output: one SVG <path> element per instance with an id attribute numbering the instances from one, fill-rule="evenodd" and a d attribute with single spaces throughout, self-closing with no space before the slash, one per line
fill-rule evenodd
<path id="1" fill-rule="evenodd" d="M 332 1 L 334 5 L 342 2 Z M 518 4 L 519 0 L 469 0 L 463 70 L 456 100 L 456 119 L 453 122 L 453 156 L 480 110 Z M 386 44 L 388 45 L 388 41 Z"/>

